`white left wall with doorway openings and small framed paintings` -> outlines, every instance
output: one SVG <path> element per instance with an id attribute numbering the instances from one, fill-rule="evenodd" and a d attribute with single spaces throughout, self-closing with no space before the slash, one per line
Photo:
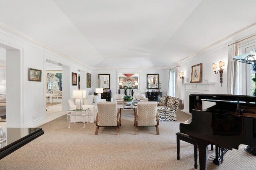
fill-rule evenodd
<path id="1" fill-rule="evenodd" d="M 63 83 L 66 84 L 65 88 L 68 90 L 63 96 L 62 109 L 69 109 L 66 100 L 72 97 L 73 89 L 78 89 L 78 86 L 71 86 L 71 72 L 78 73 L 78 69 L 90 72 L 89 68 L 51 49 L 45 48 L 44 50 L 44 46 L 41 44 L 27 39 L 18 32 L 14 33 L 12 30 L 1 26 L 0 43 L 20 51 L 18 54 L 19 58 L 16 58 L 15 62 L 12 61 L 14 63 L 8 64 L 8 59 L 6 60 L 6 84 L 12 84 L 19 88 L 18 90 L 13 90 L 12 86 L 6 86 L 7 127 L 36 127 L 38 124 L 46 121 L 46 59 L 63 64 L 67 67 L 65 75 L 66 82 L 64 80 Z M 42 70 L 42 82 L 28 81 L 28 68 Z M 18 77 L 11 75 L 8 78 L 10 73 L 15 73 Z M 8 95 L 10 96 L 8 97 Z M 12 103 L 15 103 L 14 108 L 10 105 Z"/>

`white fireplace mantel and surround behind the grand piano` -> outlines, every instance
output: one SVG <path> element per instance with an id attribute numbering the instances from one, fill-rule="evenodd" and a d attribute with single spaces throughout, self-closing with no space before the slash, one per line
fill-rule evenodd
<path id="1" fill-rule="evenodd" d="M 215 84 L 215 82 L 180 84 L 180 97 L 183 98 L 184 111 L 189 111 L 190 94 L 214 94 Z M 208 107 L 210 107 L 209 102 L 203 104 L 203 109 Z"/>

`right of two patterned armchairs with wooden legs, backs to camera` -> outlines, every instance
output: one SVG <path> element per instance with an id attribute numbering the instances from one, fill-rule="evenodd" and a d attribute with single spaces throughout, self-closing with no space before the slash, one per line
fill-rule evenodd
<path id="1" fill-rule="evenodd" d="M 159 119 L 156 110 L 156 102 L 138 102 L 138 107 L 134 111 L 135 135 L 138 135 L 138 126 L 154 126 L 156 135 L 159 135 Z"/>

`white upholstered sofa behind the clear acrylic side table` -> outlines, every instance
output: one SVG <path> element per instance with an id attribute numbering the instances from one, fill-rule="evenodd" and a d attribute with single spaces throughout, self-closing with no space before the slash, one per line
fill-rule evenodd
<path id="1" fill-rule="evenodd" d="M 106 102 L 106 99 L 99 99 L 98 96 L 94 96 L 93 94 L 90 96 L 86 96 L 81 101 L 82 108 L 89 108 L 89 116 L 88 113 L 85 115 L 85 121 L 89 123 L 94 123 L 96 119 L 96 115 L 98 113 L 97 103 Z M 68 99 L 68 105 L 70 109 L 76 109 L 76 99 Z M 77 115 L 82 113 L 77 113 Z M 82 116 L 76 116 L 76 122 L 82 122 Z M 71 116 L 71 123 L 74 123 L 74 117 Z"/>

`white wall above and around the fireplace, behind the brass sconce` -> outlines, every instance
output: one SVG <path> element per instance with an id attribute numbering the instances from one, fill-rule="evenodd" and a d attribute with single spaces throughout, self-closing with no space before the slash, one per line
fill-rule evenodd
<path id="1" fill-rule="evenodd" d="M 220 85 L 220 74 L 215 74 L 212 69 L 212 63 L 218 64 L 219 61 L 224 61 L 225 66 L 223 66 L 224 72 L 222 74 L 222 86 Z M 191 67 L 193 65 L 202 63 L 202 78 L 201 82 L 204 82 L 206 74 L 208 76 L 208 82 L 216 82 L 214 85 L 214 94 L 227 94 L 227 63 L 228 63 L 228 46 L 221 47 L 209 53 L 206 53 L 200 57 L 196 57 L 186 63 L 180 64 L 180 72 L 184 72 L 184 83 L 186 83 L 186 78 L 191 80 Z M 216 68 L 217 70 L 217 68 Z M 182 81 L 180 81 L 182 83 Z M 182 90 L 182 89 L 181 89 Z M 184 96 L 180 96 L 184 100 Z"/>

